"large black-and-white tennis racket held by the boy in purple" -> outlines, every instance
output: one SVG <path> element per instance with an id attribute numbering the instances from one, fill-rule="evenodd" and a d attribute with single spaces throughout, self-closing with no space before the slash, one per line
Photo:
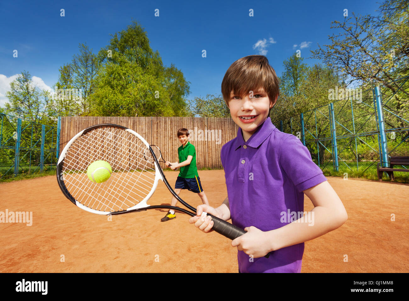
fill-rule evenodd
<path id="1" fill-rule="evenodd" d="M 150 157 L 147 150 L 153 161 L 147 158 Z M 67 199 L 90 213 L 117 215 L 164 208 L 195 216 L 196 208 L 183 201 L 171 188 L 156 154 L 135 131 L 116 124 L 98 124 L 80 131 L 64 147 L 57 163 L 58 185 Z M 88 179 L 87 168 L 97 160 L 106 161 L 112 167 L 112 174 L 106 182 L 94 183 Z M 159 180 L 189 210 L 147 204 Z M 212 229 L 231 240 L 246 233 L 229 222 L 209 216 L 214 222 Z"/>

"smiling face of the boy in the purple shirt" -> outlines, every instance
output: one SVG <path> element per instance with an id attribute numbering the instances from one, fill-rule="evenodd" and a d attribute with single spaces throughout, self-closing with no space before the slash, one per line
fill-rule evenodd
<path id="1" fill-rule="evenodd" d="M 268 117 L 270 108 L 275 101 L 270 100 L 263 88 L 257 89 L 251 94 L 244 96 L 230 93 L 229 109 L 231 118 L 242 129 L 243 138 L 247 141 L 256 129 L 263 124 Z"/>

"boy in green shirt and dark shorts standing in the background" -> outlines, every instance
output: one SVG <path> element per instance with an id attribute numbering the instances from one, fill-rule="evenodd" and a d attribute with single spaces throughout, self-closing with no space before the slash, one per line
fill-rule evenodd
<path id="1" fill-rule="evenodd" d="M 196 167 L 196 149 L 188 140 L 188 130 L 179 129 L 178 138 L 180 143 L 182 143 L 182 145 L 178 148 L 180 163 L 172 163 L 169 161 L 166 161 L 165 163 L 165 165 L 167 167 L 170 167 L 171 170 L 175 170 L 176 168 L 180 167 L 178 179 L 175 183 L 175 192 L 177 195 L 180 194 L 180 191 L 182 189 L 196 192 L 199 195 L 200 199 L 202 199 L 202 203 L 209 205 L 209 201 L 207 200 L 206 194 L 202 189 L 202 185 L 200 184 L 198 168 Z M 171 166 L 169 166 L 169 164 L 171 164 Z M 176 203 L 178 203 L 178 199 L 172 197 L 171 206 L 176 206 Z M 174 218 L 176 218 L 175 211 L 169 210 L 169 212 L 166 213 L 165 217 L 163 217 L 161 221 L 166 222 L 168 220 L 173 220 Z"/>

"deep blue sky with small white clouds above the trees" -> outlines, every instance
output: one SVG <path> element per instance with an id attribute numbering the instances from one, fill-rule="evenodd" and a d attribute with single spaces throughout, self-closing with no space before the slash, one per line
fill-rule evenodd
<path id="1" fill-rule="evenodd" d="M 265 54 L 277 75 L 297 49 L 310 56 L 328 43 L 331 22 L 374 15 L 376 1 L 2 1 L 0 3 L 0 105 L 9 83 L 23 70 L 42 88 L 58 80 L 58 68 L 87 43 L 94 53 L 110 34 L 136 20 L 165 66 L 174 63 L 190 81 L 191 94 L 220 94 L 227 68 L 241 57 Z M 65 16 L 60 16 L 65 9 Z M 155 17 L 159 9 L 159 17 Z M 254 16 L 249 16 L 249 9 Z M 257 47 L 258 45 L 258 47 Z M 294 45 L 297 47 L 294 48 Z M 305 47 L 302 47 L 303 45 Z M 18 50 L 18 57 L 13 57 Z M 206 50 L 207 57 L 202 57 Z M 306 63 L 319 62 L 308 59 Z"/>

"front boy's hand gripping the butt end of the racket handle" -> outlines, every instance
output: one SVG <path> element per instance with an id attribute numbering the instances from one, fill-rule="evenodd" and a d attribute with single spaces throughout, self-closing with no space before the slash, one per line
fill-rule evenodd
<path id="1" fill-rule="evenodd" d="M 244 251 L 247 255 L 252 255 L 253 258 L 263 257 L 272 251 L 267 232 L 254 226 L 246 227 L 244 230 L 247 233 L 231 241 L 233 247 L 237 247 L 239 251 Z"/>

